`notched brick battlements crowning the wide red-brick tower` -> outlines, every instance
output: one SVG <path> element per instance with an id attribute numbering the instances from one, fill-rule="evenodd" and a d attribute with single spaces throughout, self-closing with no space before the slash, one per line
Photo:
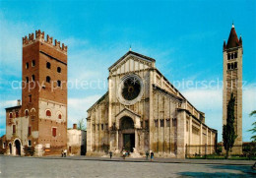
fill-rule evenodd
<path id="1" fill-rule="evenodd" d="M 68 51 L 68 46 L 64 43 L 62 43 L 62 45 L 60 45 L 60 41 L 57 41 L 57 39 L 54 40 L 54 44 L 53 44 L 53 37 L 50 37 L 48 34 L 46 35 L 46 40 L 44 39 L 44 31 L 41 30 L 35 30 L 35 38 L 34 38 L 34 33 L 30 33 L 29 37 L 26 35 L 25 37 L 23 37 L 23 46 L 27 46 L 31 43 L 33 43 L 34 41 L 41 41 L 41 42 L 45 42 L 47 44 L 52 45 L 54 48 L 56 48 L 57 50 L 60 50 L 64 53 L 67 53 Z"/>

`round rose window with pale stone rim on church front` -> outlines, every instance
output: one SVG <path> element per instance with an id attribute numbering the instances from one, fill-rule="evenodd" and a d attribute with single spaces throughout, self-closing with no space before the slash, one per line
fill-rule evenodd
<path id="1" fill-rule="evenodd" d="M 124 77 L 119 85 L 119 101 L 131 105 L 137 102 L 142 96 L 143 82 L 137 75 Z"/>

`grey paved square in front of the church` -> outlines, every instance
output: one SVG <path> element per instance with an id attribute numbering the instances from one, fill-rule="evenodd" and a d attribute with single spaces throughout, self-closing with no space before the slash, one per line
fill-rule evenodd
<path id="1" fill-rule="evenodd" d="M 255 177 L 250 165 L 0 156 L 0 177 Z"/>

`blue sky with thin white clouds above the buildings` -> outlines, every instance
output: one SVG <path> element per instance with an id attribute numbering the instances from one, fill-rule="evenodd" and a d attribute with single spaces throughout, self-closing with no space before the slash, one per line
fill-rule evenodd
<path id="1" fill-rule="evenodd" d="M 255 1 L 0 1 L 0 136 L 5 107 L 21 98 L 12 81 L 22 78 L 22 37 L 35 30 L 68 45 L 69 81 L 106 82 L 107 68 L 132 50 L 157 60 L 178 82 L 223 80 L 223 42 L 231 24 L 243 38 L 243 141 L 249 141 L 256 109 Z M 222 86 L 179 87 L 222 140 Z M 69 127 L 107 89 L 69 89 Z"/>

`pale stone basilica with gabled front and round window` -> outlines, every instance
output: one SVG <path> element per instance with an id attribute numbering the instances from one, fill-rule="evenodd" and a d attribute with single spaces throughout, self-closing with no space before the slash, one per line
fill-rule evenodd
<path id="1" fill-rule="evenodd" d="M 160 73 L 155 59 L 130 50 L 108 70 L 108 91 L 88 109 L 87 155 L 125 149 L 184 158 L 186 145 L 216 146 L 217 131 Z"/>

